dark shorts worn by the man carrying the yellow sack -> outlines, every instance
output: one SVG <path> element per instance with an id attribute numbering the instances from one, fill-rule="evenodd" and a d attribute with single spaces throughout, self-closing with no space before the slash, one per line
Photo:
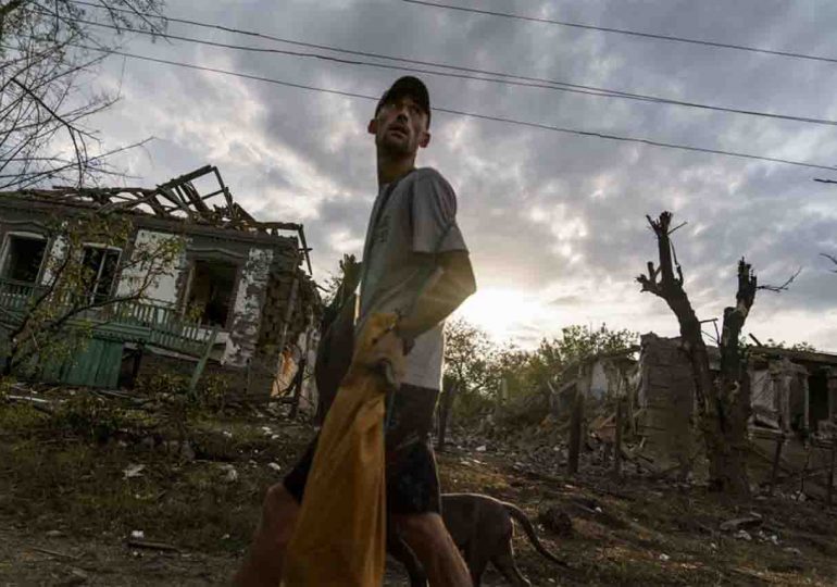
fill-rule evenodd
<path id="1" fill-rule="evenodd" d="M 387 510 L 395 514 L 440 513 L 439 476 L 430 447 L 435 389 L 402 385 L 387 398 L 388 426 L 385 430 Z M 317 438 L 309 445 L 285 488 L 302 502 L 308 473 Z"/>

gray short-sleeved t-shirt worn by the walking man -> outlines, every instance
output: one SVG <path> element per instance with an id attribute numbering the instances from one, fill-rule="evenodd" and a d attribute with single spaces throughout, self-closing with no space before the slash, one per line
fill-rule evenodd
<path id="1" fill-rule="evenodd" d="M 457 225 L 457 195 L 434 168 L 413 171 L 382 186 L 372 207 L 358 324 L 371 312 L 409 312 L 436 268 L 433 254 L 467 251 Z M 403 383 L 441 389 L 444 323 L 422 334 L 407 355 Z"/>

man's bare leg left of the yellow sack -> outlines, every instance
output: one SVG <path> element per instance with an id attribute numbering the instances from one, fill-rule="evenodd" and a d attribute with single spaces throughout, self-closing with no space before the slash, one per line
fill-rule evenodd
<path id="1" fill-rule="evenodd" d="M 282 483 L 264 496 L 262 517 L 241 567 L 233 578 L 237 587 L 276 587 L 282 563 L 299 515 L 299 503 Z"/>

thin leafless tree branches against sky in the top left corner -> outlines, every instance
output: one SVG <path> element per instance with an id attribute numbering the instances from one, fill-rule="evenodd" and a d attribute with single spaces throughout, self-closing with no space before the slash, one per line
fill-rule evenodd
<path id="1" fill-rule="evenodd" d="M 88 121 L 116 97 L 85 95 L 84 76 L 108 57 L 122 28 L 161 32 L 163 2 L 0 3 L 0 189 L 45 180 L 82 186 L 114 173 L 108 158 L 125 147 L 103 151 Z M 93 32 L 99 25 L 116 34 L 102 38 Z"/>

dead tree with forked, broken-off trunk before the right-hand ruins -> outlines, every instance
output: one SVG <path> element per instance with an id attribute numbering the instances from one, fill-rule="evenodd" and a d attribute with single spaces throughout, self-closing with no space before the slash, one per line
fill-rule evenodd
<path id="1" fill-rule="evenodd" d="M 744 259 L 738 262 L 736 303 L 724 309 L 719 340 L 721 372 L 715 376 L 710 371 L 700 321 L 683 288 L 683 270 L 672 259 L 672 214 L 663 212 L 658 220 L 647 217 L 657 236 L 660 264 L 654 267 L 653 262 L 649 262 L 648 275 L 640 275 L 637 282 L 642 286 L 642 291 L 650 291 L 665 300 L 677 316 L 682 348 L 691 363 L 698 422 L 709 458 L 710 487 L 748 496 L 747 423 L 751 413 L 751 394 L 747 358 L 739 338 L 755 300 L 755 292 L 760 289 L 755 275 Z"/>

